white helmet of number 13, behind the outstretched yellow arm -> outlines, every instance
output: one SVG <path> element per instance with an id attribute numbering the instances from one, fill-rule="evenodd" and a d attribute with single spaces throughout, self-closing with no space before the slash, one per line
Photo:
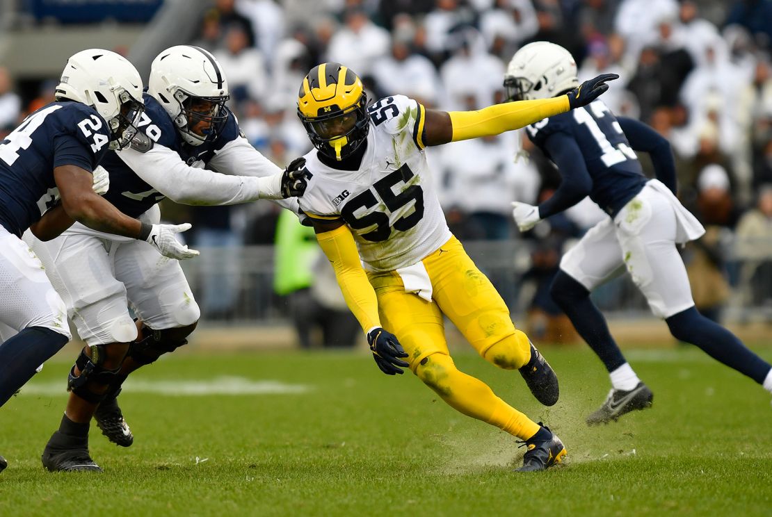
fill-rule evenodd
<path id="1" fill-rule="evenodd" d="M 548 99 L 579 86 L 571 52 L 550 42 L 533 42 L 515 52 L 506 67 L 507 100 Z"/>

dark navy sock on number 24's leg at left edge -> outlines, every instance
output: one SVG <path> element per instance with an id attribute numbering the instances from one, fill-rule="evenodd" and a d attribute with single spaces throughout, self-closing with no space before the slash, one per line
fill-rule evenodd
<path id="1" fill-rule="evenodd" d="M 31 326 L 0 345 L 0 406 L 32 379 L 46 360 L 59 352 L 67 337 L 42 326 Z"/>

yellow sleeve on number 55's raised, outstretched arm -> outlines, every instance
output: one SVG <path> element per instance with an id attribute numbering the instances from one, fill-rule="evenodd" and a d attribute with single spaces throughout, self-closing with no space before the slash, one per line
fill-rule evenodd
<path id="1" fill-rule="evenodd" d="M 451 111 L 452 141 L 489 137 L 525 127 L 570 109 L 568 96 L 494 104 L 477 111 Z"/>

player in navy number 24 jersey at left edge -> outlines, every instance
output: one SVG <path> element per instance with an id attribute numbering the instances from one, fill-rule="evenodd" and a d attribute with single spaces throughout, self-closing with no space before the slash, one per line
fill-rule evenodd
<path id="1" fill-rule="evenodd" d="M 0 141 L 0 321 L 18 332 L 0 345 L 0 405 L 70 338 L 64 303 L 22 242 L 25 230 L 49 238 L 64 228 L 52 221 L 66 215 L 130 240 L 152 235 L 154 251 L 164 255 L 191 252 L 173 238 L 180 228 L 144 225 L 93 191 L 92 171 L 104 154 L 136 133 L 141 95 L 142 80 L 126 59 L 84 50 L 67 61 L 56 102 Z"/>

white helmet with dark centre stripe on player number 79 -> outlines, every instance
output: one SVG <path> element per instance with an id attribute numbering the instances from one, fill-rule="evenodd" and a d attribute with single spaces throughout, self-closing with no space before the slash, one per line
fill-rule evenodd
<path id="1" fill-rule="evenodd" d="M 180 45 L 164 50 L 153 60 L 147 86 L 188 144 L 216 138 L 228 119 L 228 79 L 205 49 Z"/>

